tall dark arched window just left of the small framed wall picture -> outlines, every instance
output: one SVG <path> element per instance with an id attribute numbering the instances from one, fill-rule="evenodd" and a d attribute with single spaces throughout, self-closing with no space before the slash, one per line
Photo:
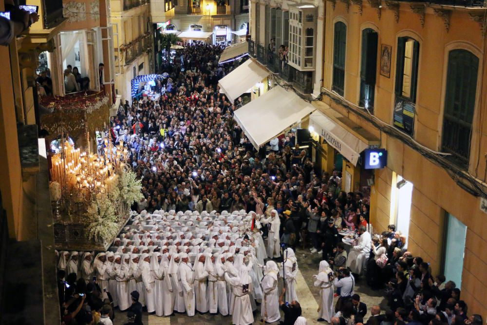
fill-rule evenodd
<path id="1" fill-rule="evenodd" d="M 371 28 L 366 28 L 362 31 L 359 105 L 371 111 L 374 109 L 377 36 L 377 33 Z"/>

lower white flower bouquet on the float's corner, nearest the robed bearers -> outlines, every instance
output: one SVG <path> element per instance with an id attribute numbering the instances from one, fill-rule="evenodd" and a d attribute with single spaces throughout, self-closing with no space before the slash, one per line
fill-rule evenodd
<path id="1" fill-rule="evenodd" d="M 110 200 L 94 200 L 85 213 L 89 239 L 106 242 L 118 231 L 115 208 Z"/>

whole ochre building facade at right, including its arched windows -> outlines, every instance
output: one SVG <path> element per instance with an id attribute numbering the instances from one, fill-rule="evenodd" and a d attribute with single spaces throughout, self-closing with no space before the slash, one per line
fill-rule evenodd
<path id="1" fill-rule="evenodd" d="M 470 5 L 326 1 L 316 107 L 387 150 L 369 183 L 374 231 L 403 228 L 408 250 L 433 275 L 456 269 L 469 314 L 485 316 L 486 20 L 485 8 Z M 323 149 L 331 154 L 322 168 L 332 172 L 334 149 Z M 342 189 L 361 190 L 360 165 L 343 162 Z"/>

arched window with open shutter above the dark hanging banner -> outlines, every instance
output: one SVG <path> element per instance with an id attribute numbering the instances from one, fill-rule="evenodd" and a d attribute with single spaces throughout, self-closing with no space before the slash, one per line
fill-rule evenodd
<path id="1" fill-rule="evenodd" d="M 419 43 L 401 37 L 397 41 L 396 96 L 416 102 L 416 85 L 418 78 Z"/>

